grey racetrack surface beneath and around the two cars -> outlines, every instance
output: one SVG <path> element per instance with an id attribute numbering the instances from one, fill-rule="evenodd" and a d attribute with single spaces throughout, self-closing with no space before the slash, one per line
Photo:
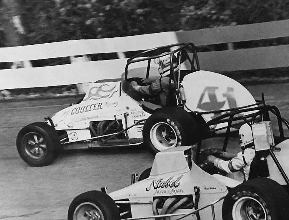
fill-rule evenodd
<path id="1" fill-rule="evenodd" d="M 282 117 L 289 119 L 289 84 L 247 88 L 257 99 L 264 92 L 266 103 L 276 105 Z M 66 151 L 47 167 L 29 167 L 23 162 L 15 146 L 21 127 L 43 121 L 45 116 L 75 101 L 0 102 L 0 219 L 67 219 L 68 206 L 76 195 L 102 186 L 114 191 L 130 184 L 132 173 L 140 174 L 151 167 L 153 156 L 141 147 Z M 214 147 L 222 144 L 221 140 L 213 143 Z M 230 139 L 229 145 L 230 150 L 238 150 L 236 140 Z"/>

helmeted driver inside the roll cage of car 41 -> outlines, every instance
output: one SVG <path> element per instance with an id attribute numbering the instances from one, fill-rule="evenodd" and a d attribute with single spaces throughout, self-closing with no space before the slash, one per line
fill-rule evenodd
<path id="1" fill-rule="evenodd" d="M 177 58 L 173 55 L 173 68 L 174 71 L 178 71 L 178 63 Z M 168 96 L 169 92 L 169 85 L 170 85 L 170 69 L 171 69 L 171 60 L 170 55 L 162 56 L 160 58 L 157 58 L 156 63 L 159 65 L 158 72 L 159 76 L 155 77 L 149 77 L 142 81 L 142 83 L 147 83 L 149 85 L 147 86 L 140 86 L 137 84 L 137 82 L 132 81 L 130 83 L 130 86 L 136 90 L 137 92 L 143 94 L 143 95 L 149 95 L 149 96 L 156 96 L 160 95 L 160 101 L 162 106 L 166 105 L 166 98 Z M 174 87 L 173 80 L 171 81 L 171 86 Z"/>

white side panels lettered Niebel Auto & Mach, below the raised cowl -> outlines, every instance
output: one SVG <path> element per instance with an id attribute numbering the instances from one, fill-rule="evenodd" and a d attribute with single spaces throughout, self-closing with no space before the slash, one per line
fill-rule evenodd
<path id="1" fill-rule="evenodd" d="M 195 201 L 194 186 L 200 188 L 200 200 L 198 207 L 208 205 L 227 194 L 226 185 L 218 181 L 212 175 L 201 170 L 196 164 L 192 164 L 191 171 L 185 173 L 173 172 L 163 175 L 155 175 L 145 180 L 127 186 L 109 195 L 112 199 L 129 199 L 138 202 L 153 202 L 156 197 L 176 197 L 181 195 L 192 195 Z M 222 201 L 214 205 L 216 219 L 221 217 Z M 159 208 L 161 213 L 163 207 Z M 176 212 L 188 213 L 190 209 L 179 209 Z M 132 217 L 153 216 L 152 204 L 131 204 Z M 174 213 L 176 213 L 174 212 Z M 212 220 L 212 210 L 210 207 L 200 212 L 201 219 Z M 177 217 L 171 217 L 177 219 Z M 186 219 L 197 219 L 196 216 L 189 216 Z"/>

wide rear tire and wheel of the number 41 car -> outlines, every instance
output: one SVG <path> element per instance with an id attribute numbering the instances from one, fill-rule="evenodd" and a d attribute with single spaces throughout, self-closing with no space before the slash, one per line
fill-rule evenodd
<path id="1" fill-rule="evenodd" d="M 197 142 L 197 123 L 179 107 L 159 109 L 144 123 L 142 136 L 145 146 L 154 154 L 170 147 Z"/>

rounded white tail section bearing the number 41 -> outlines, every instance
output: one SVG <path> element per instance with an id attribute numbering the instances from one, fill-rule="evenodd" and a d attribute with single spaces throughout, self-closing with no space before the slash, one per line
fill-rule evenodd
<path id="1" fill-rule="evenodd" d="M 196 71 L 186 75 L 181 84 L 184 86 L 186 107 L 192 111 L 218 111 L 256 103 L 244 86 L 219 73 Z M 242 114 L 247 115 L 253 112 L 256 111 L 243 112 Z M 221 113 L 203 114 L 203 118 L 208 122 L 220 115 Z M 212 127 L 218 129 L 225 126 L 227 123 L 220 123 Z"/>

